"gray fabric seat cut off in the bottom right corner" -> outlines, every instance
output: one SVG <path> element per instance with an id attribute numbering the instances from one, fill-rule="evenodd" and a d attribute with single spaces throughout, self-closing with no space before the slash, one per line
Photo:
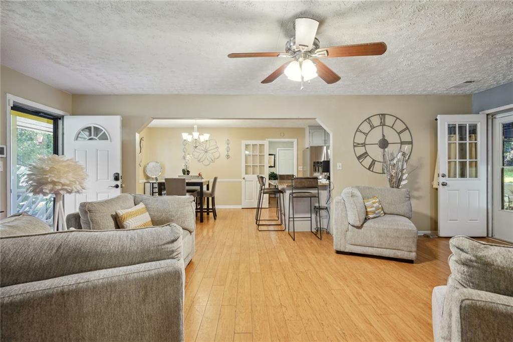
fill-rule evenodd
<path id="1" fill-rule="evenodd" d="M 450 239 L 451 275 L 432 292 L 436 342 L 508 341 L 513 336 L 513 246 Z"/>

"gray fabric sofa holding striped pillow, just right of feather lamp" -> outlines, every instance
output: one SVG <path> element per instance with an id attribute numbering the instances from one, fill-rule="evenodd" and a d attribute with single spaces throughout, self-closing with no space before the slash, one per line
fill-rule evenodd
<path id="1" fill-rule="evenodd" d="M 182 227 L 184 263 L 187 266 L 195 252 L 196 216 L 192 196 L 148 196 L 121 194 L 95 202 L 83 202 L 77 213 L 66 216 L 66 225 L 79 230 L 119 229 L 116 210 L 144 203 L 153 225 L 175 223 Z"/>

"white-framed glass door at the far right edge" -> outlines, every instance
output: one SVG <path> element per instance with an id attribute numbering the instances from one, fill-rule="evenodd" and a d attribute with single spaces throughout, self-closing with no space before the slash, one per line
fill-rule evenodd
<path id="1" fill-rule="evenodd" d="M 513 242 L 513 113 L 492 122 L 491 235 Z"/>

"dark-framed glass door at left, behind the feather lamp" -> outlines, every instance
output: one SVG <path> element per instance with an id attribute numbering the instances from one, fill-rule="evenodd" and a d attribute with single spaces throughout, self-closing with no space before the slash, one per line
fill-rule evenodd
<path id="1" fill-rule="evenodd" d="M 43 112 L 11 107 L 11 214 L 28 213 L 53 224 L 53 196 L 27 192 L 25 175 L 40 156 L 58 154 L 58 118 Z"/>

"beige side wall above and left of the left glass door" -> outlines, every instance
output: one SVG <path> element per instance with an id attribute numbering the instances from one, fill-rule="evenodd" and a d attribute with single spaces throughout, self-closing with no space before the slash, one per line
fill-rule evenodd
<path id="1" fill-rule="evenodd" d="M 2 107 L 0 109 L 0 145 L 6 144 L 7 93 L 71 113 L 71 94 L 55 89 L 48 84 L 37 81 L 3 65 L 0 69 L 0 93 L 2 97 L 2 100 L 0 101 Z M 0 161 L 4 163 L 4 171 L 0 172 L 0 194 L 2 194 L 0 199 L 0 202 L 2 203 L 0 211 L 5 212 L 7 206 L 7 172 L 5 170 L 7 159 L 0 158 Z M 5 213 L 0 214 L 0 217 L 4 216 Z"/>

